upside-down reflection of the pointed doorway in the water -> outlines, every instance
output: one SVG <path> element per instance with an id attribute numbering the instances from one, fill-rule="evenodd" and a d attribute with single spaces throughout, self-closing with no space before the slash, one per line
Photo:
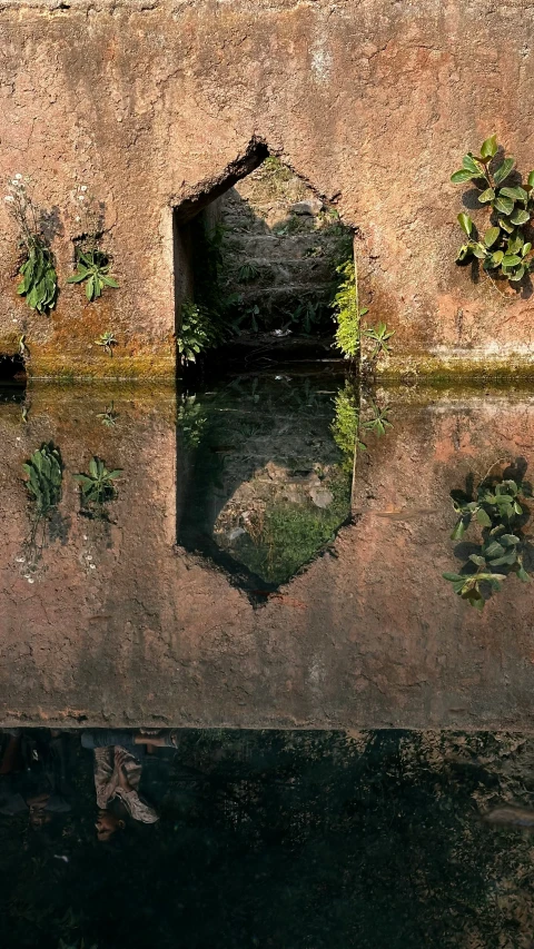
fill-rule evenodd
<path id="1" fill-rule="evenodd" d="M 178 543 L 256 592 L 309 563 L 350 513 L 352 464 L 330 434 L 333 388 L 327 375 L 255 376 L 186 397 L 178 421 L 192 451 Z"/>

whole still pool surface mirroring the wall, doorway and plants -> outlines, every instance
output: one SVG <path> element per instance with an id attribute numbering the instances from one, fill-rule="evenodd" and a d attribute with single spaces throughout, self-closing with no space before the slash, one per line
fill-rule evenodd
<path id="1" fill-rule="evenodd" d="M 2 947 L 533 945 L 530 392 L 33 385 L 0 436 Z"/>

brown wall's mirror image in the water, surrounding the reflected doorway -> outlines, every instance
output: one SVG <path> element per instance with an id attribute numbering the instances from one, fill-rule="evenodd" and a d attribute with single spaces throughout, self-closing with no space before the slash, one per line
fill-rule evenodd
<path id="1" fill-rule="evenodd" d="M 456 566 L 451 488 L 530 457 L 531 398 L 389 399 L 394 428 L 359 457 L 355 524 L 260 606 L 174 548 L 170 392 L 116 398 L 115 429 L 96 421 L 97 395 L 36 391 L 27 426 L 2 409 L 2 721 L 530 729 L 531 587 L 510 577 L 478 615 L 442 573 Z M 20 464 L 52 437 L 69 472 L 100 454 L 125 480 L 112 525 L 78 517 L 66 484 L 69 541 L 30 585 Z"/>

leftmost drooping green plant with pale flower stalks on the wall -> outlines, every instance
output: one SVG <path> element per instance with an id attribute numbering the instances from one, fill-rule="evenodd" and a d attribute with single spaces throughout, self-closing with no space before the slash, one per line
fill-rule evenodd
<path id="1" fill-rule="evenodd" d="M 41 226 L 41 214 L 29 194 L 30 179 L 17 174 L 10 179 L 4 201 L 19 230 L 22 278 L 17 293 L 26 298 L 30 309 L 48 314 L 56 306 L 58 275 L 48 238 Z"/>

